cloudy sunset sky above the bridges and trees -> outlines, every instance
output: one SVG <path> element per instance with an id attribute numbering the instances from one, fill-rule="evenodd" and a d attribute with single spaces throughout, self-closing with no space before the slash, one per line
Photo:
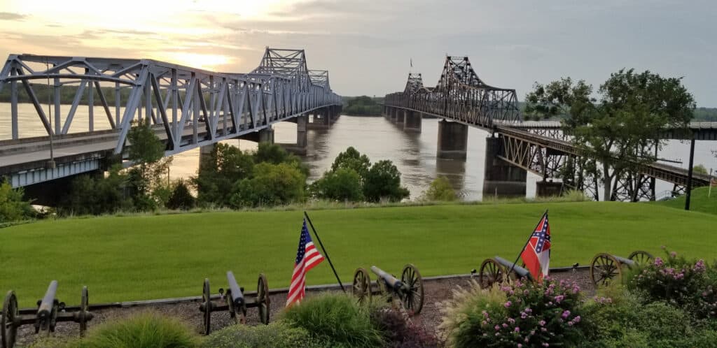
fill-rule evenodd
<path id="1" fill-rule="evenodd" d="M 446 55 L 514 88 L 561 77 L 599 86 L 627 67 L 683 77 L 717 107 L 713 0 L 0 0 L 0 56 L 150 58 L 250 72 L 265 47 L 305 49 L 339 95 L 433 86 Z M 413 62 L 413 67 L 410 67 Z"/>

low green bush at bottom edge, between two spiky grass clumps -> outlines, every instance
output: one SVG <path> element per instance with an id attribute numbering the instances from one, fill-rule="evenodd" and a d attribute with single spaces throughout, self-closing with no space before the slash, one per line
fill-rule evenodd
<path id="1" fill-rule="evenodd" d="M 300 327 L 290 327 L 285 322 L 249 327 L 233 325 L 206 337 L 201 347 L 206 348 L 303 348 L 319 347 L 309 333 Z"/>

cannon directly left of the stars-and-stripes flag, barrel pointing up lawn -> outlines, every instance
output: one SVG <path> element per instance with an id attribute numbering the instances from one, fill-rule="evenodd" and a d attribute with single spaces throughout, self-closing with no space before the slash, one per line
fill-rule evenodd
<path id="1" fill-rule="evenodd" d="M 212 330 L 212 312 L 213 311 L 229 311 L 229 317 L 236 324 L 246 324 L 247 308 L 256 307 L 259 311 L 259 320 L 263 324 L 269 324 L 269 286 L 267 278 L 264 274 L 259 274 L 257 281 L 257 293 L 253 299 L 244 297 L 244 288 L 239 287 L 237 279 L 234 278 L 232 271 L 227 271 L 228 289 L 219 289 L 219 300 L 212 301 L 212 291 L 209 289 L 209 279 L 204 279 L 204 287 L 202 288 L 201 304 L 199 311 L 204 314 L 202 322 L 204 334 L 209 334 Z M 214 296 L 215 298 L 217 296 Z"/>

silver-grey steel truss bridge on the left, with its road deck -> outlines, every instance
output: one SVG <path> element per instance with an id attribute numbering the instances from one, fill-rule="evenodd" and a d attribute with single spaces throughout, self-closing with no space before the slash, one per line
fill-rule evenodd
<path id="1" fill-rule="evenodd" d="M 0 92 L 5 88 L 10 90 L 11 139 L 0 140 L 0 176 L 9 176 L 14 187 L 102 168 L 105 159 L 125 153 L 133 121 L 151 124 L 166 142 L 168 156 L 341 107 L 328 71 L 308 69 L 303 49 L 268 47 L 248 74 L 152 59 L 11 54 L 0 70 Z M 40 88 L 51 90 L 51 100 L 39 100 Z M 71 105 L 60 100 L 63 88 L 75 91 Z M 21 91 L 46 136 L 19 136 Z M 95 105 L 101 106 L 98 115 Z M 87 132 L 70 133 L 81 107 L 88 107 Z M 95 116 L 106 117 L 110 129 L 95 130 Z"/>

